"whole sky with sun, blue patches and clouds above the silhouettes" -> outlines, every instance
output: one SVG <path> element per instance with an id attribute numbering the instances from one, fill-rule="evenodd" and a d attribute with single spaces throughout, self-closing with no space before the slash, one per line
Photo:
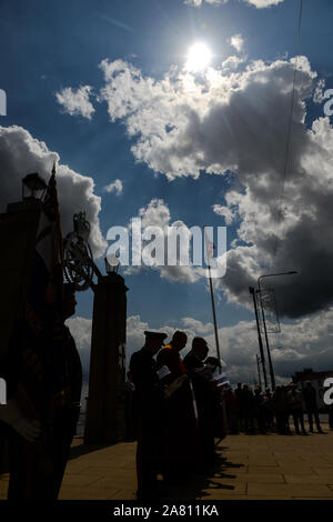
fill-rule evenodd
<path id="1" fill-rule="evenodd" d="M 263 273 L 299 272 L 270 280 L 278 380 L 333 368 L 333 129 L 324 111 L 333 4 L 303 0 L 296 58 L 299 9 L 299 0 L 0 1 L 1 211 L 20 198 L 23 175 L 47 180 L 56 160 L 63 231 L 85 210 L 101 269 L 109 228 L 132 218 L 162 229 L 226 227 L 226 273 L 214 289 L 233 381 L 255 379 L 249 285 Z M 121 273 L 128 355 L 145 329 L 205 337 L 214 354 L 202 270 Z M 92 293 L 82 292 L 70 325 L 85 368 L 91 313 Z"/>

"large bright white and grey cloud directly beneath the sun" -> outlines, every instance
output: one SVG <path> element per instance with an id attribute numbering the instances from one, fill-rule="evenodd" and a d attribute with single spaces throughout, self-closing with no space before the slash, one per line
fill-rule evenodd
<path id="1" fill-rule="evenodd" d="M 300 141 L 306 140 L 300 119 L 313 73 L 306 58 L 299 63 L 295 121 Z M 281 171 L 293 61 L 256 61 L 230 74 L 210 70 L 202 81 L 176 70 L 155 81 L 121 60 L 104 60 L 101 68 L 105 77 L 101 99 L 108 102 L 111 121 L 123 121 L 129 135 L 137 139 L 132 145 L 135 160 L 155 172 L 172 180 L 198 178 L 201 170 Z"/>

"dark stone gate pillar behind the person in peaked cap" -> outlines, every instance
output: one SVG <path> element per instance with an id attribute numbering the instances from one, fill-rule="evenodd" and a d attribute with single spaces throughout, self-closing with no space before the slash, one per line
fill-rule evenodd
<path id="1" fill-rule="evenodd" d="M 84 442 L 115 443 L 124 438 L 124 279 L 112 272 L 94 289 L 89 396 Z"/>

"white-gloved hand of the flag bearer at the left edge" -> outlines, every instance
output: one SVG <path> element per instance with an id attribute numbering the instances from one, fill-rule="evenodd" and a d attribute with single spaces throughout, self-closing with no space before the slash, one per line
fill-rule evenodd
<path id="1" fill-rule="evenodd" d="M 11 425 L 19 435 L 29 442 L 33 442 L 41 434 L 40 422 L 38 420 L 28 421 L 16 399 L 9 399 L 7 404 L 0 405 L 0 420 Z"/>

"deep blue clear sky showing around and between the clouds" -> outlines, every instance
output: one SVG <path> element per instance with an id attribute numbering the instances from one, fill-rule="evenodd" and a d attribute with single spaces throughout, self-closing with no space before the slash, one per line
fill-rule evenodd
<path id="1" fill-rule="evenodd" d="M 252 3 L 256 3 L 255 0 Z M 215 71 L 220 71 L 221 64 L 234 56 L 240 60 L 241 73 L 255 60 L 263 60 L 265 67 L 282 60 L 285 61 L 285 67 L 289 67 L 292 78 L 289 60 L 295 54 L 297 18 L 296 0 L 284 0 L 266 9 L 258 9 L 245 0 L 229 0 L 228 3 L 215 4 L 203 1 L 200 7 L 185 4 L 182 0 L 0 1 L 2 50 L 0 88 L 6 90 L 8 97 L 8 116 L 1 117 L 0 124 L 6 128 L 19 126 L 26 129 L 32 138 L 44 142 L 49 151 L 57 151 L 61 164 L 67 164 L 74 172 L 93 179 L 93 193 L 101 198 L 99 222 L 103 237 L 113 224 L 127 225 L 132 217 L 138 215 L 140 209 L 147 209 L 154 199 L 162 200 L 168 207 L 171 222 L 181 220 L 188 227 L 224 225 L 225 220 L 213 210 L 213 205 L 226 204 L 224 195 L 238 183 L 238 180 L 243 188 L 248 187 L 246 169 L 243 169 L 240 178 L 238 173 L 222 175 L 222 167 L 232 167 L 231 163 L 225 163 L 221 167 L 221 172 L 208 174 L 209 163 L 206 163 L 200 170 L 198 179 L 193 172 L 190 175 L 175 175 L 170 180 L 168 169 L 163 171 L 162 162 L 158 158 L 153 159 L 158 165 L 155 171 L 150 160 L 135 161 L 138 158 L 131 151 L 131 147 L 138 144 L 138 134 L 128 135 L 130 117 L 120 118 L 114 113 L 111 116 L 112 109 L 109 108 L 108 113 L 107 100 L 98 100 L 100 90 L 108 84 L 99 64 L 105 59 L 110 63 L 123 60 L 140 71 L 141 80 L 151 78 L 155 82 L 157 96 L 162 96 L 158 89 L 162 86 L 163 78 L 167 76 L 171 78 L 170 70 L 174 67 L 181 71 L 189 48 L 196 41 L 204 41 L 213 53 L 210 66 Z M 331 1 L 303 1 L 300 54 L 307 58 L 311 71 L 317 74 L 315 79 L 313 78 L 312 92 L 320 79 L 325 80 L 325 89 L 333 87 L 332 19 Z M 241 34 L 243 39 L 240 50 L 230 44 L 231 37 L 235 34 Z M 132 77 L 129 86 L 133 86 L 133 81 Z M 300 78 L 300 81 L 303 80 Z M 89 99 L 94 108 L 91 118 L 71 116 L 68 108 L 61 106 L 56 98 L 56 94 L 65 88 L 71 88 L 74 92 L 82 86 L 91 87 Z M 306 106 L 304 114 L 307 129 L 314 120 L 324 116 L 323 103 L 314 103 L 309 92 L 306 91 L 303 98 L 300 94 L 300 108 L 301 98 Z M 121 92 L 112 94 L 111 104 L 118 94 Z M 251 96 L 249 89 L 249 97 Z M 191 109 L 194 110 L 195 101 L 192 100 L 191 103 Z M 213 93 L 209 103 L 211 108 L 214 107 Z M 256 99 L 255 103 L 260 103 L 260 99 Z M 147 101 L 144 110 L 149 110 Z M 261 109 L 258 110 L 261 113 Z M 143 112 L 134 111 L 134 114 L 140 119 Z M 269 127 L 274 126 L 274 116 L 270 118 L 265 114 L 265 117 Z M 110 121 L 111 118 L 114 121 Z M 150 121 L 153 118 L 158 118 L 157 108 L 152 109 Z M 246 116 L 243 118 L 246 121 Z M 249 123 L 250 133 L 253 132 L 252 123 L 252 121 Z M 282 124 L 287 128 L 287 111 Z M 142 134 L 142 129 L 140 133 Z M 258 131 L 256 141 L 260 141 L 265 133 L 266 127 L 262 127 L 261 133 Z M 191 135 L 194 142 L 195 135 Z M 284 135 L 283 132 L 281 135 Z M 196 138 L 200 141 L 202 134 L 201 138 Z M 238 140 L 238 135 L 234 139 Z M 281 142 L 279 147 L 281 151 L 284 150 L 284 143 Z M 202 150 L 205 151 L 204 147 Z M 303 152 L 305 157 L 305 149 Z M 194 152 L 189 154 L 192 153 Z M 235 158 L 236 161 L 238 157 Z M 184 157 L 181 161 L 185 161 Z M 270 168 L 268 160 L 268 171 Z M 262 172 L 265 172 L 264 168 Z M 119 195 L 115 192 L 104 191 L 104 187 L 115 179 L 121 180 L 123 187 Z M 280 185 L 279 183 L 274 185 L 272 202 L 279 197 L 281 179 L 279 182 Z M 249 187 L 253 195 L 255 191 L 251 182 Z M 250 203 L 260 205 L 263 202 L 260 195 L 256 195 L 258 199 L 255 200 L 253 195 Z M 244 199 L 242 201 L 242 204 L 245 204 Z M 246 203 L 248 218 L 244 220 L 245 211 L 241 212 L 228 225 L 230 249 L 233 248 L 232 241 L 235 239 L 239 239 L 239 245 L 255 244 L 254 235 L 252 239 L 249 237 L 250 232 L 242 238 L 239 234 L 240 223 L 246 223 L 246 219 L 250 219 L 250 203 Z M 268 204 L 270 205 L 270 201 Z M 301 215 L 303 210 L 299 209 L 297 215 Z M 248 227 L 248 230 L 250 228 Z M 260 248 L 265 249 L 265 247 Z M 296 264 L 299 261 L 292 258 L 291 262 Z M 101 261 L 99 263 L 102 267 Z M 256 277 L 261 273 L 260 267 L 264 267 L 263 258 L 258 263 Z M 290 267 L 287 261 L 286 265 L 290 269 L 294 268 Z M 240 280 L 244 281 L 244 290 L 240 290 L 234 280 L 228 281 L 226 290 L 223 282 L 216 289 L 220 328 L 236 327 L 242 321 L 253 327 L 251 301 L 245 294 L 246 283 L 253 282 L 254 274 L 250 265 L 246 267 L 246 277 L 240 277 Z M 185 283 L 162 278 L 159 271 L 145 270 L 138 274 L 125 275 L 125 282 L 130 288 L 129 317 L 140 315 L 140 321 L 148 323 L 150 328 L 159 329 L 163 325 L 169 325 L 170 329 L 176 328 L 181 325 L 180 318 L 192 318 L 202 324 L 212 322 L 205 279 Z M 317 285 L 317 282 L 313 284 Z M 306 288 L 307 293 L 309 291 Z M 295 318 L 302 321 L 302 318 L 311 313 L 326 313 L 332 302 L 331 294 L 325 295 L 325 299 L 319 295 L 313 309 L 304 305 L 299 310 L 297 307 L 289 308 L 283 304 L 289 299 L 285 287 L 280 289 L 280 294 L 282 315 L 285 323 L 291 327 Z M 79 295 L 77 315 L 89 320 L 91 311 L 92 293 L 89 291 Z M 292 341 L 289 342 L 292 344 Z M 276 344 L 280 342 L 276 341 Z M 325 338 L 321 349 L 326 348 Z M 286 349 L 290 350 L 292 347 L 289 345 Z M 302 350 L 300 353 L 303 353 Z M 236 367 L 238 362 L 234 362 L 234 365 Z"/>

